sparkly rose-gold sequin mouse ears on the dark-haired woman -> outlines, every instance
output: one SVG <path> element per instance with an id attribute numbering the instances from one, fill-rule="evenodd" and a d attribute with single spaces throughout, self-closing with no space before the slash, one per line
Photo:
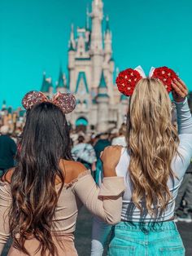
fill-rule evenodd
<path id="1" fill-rule="evenodd" d="M 22 99 L 22 104 L 25 109 L 31 109 L 35 104 L 42 102 L 50 102 L 62 109 L 63 113 L 71 113 L 76 108 L 76 98 L 70 93 L 58 92 L 52 99 L 48 99 L 41 91 L 29 91 Z"/>

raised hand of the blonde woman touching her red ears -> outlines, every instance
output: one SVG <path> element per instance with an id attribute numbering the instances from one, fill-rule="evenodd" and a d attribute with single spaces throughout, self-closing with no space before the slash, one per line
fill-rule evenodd
<path id="1" fill-rule="evenodd" d="M 181 79 L 174 79 L 172 82 L 172 88 L 174 89 L 172 90 L 172 97 L 177 102 L 183 101 L 186 95 L 188 95 L 187 87 Z"/>

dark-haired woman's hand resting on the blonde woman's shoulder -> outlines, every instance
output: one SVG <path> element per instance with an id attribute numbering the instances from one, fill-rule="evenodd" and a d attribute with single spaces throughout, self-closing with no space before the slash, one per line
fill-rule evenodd
<path id="1" fill-rule="evenodd" d="M 116 176 L 116 166 L 120 161 L 121 148 L 121 146 L 109 146 L 101 152 L 104 177 Z"/>

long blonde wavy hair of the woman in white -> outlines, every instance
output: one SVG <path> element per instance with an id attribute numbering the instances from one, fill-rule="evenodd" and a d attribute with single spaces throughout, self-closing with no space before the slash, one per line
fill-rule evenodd
<path id="1" fill-rule="evenodd" d="M 179 138 L 172 125 L 172 103 L 162 82 L 143 78 L 129 102 L 127 142 L 130 153 L 129 174 L 133 184 L 133 203 L 151 216 L 162 214 L 172 195 L 168 178 Z"/>

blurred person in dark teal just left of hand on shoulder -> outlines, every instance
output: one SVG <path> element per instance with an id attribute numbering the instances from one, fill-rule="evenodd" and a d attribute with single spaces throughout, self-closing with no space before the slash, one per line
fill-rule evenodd
<path id="1" fill-rule="evenodd" d="M 101 152 L 103 152 L 104 148 L 111 145 L 111 141 L 108 138 L 109 138 L 109 134 L 107 132 L 102 133 L 101 135 L 99 135 L 99 139 L 97 143 L 95 143 L 94 145 L 94 151 L 96 152 L 96 157 L 97 157 L 94 180 L 97 184 L 99 183 L 99 180 L 103 176 L 103 167 L 102 167 L 102 162 L 100 160 L 100 154 Z"/>

